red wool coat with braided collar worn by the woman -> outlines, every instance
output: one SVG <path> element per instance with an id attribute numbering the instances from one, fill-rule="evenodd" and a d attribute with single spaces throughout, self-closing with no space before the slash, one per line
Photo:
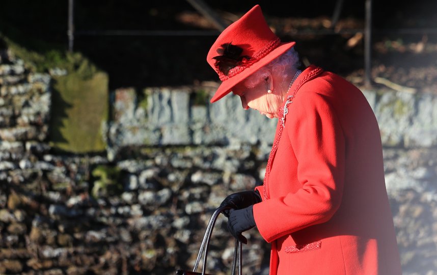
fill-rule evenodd
<path id="1" fill-rule="evenodd" d="M 374 113 L 348 81 L 310 66 L 290 89 L 254 205 L 270 275 L 400 275 Z"/>

